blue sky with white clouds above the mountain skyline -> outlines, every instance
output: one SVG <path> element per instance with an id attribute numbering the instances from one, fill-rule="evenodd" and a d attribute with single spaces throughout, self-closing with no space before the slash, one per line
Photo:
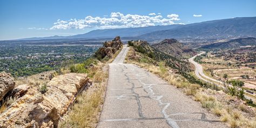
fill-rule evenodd
<path id="1" fill-rule="evenodd" d="M 255 6 L 255 0 L 0 0 L 0 40 L 252 17 Z"/>

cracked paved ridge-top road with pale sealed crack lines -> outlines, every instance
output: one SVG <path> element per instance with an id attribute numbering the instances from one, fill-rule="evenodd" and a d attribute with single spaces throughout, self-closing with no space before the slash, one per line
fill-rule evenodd
<path id="1" fill-rule="evenodd" d="M 173 85 L 133 64 L 129 48 L 109 64 L 109 81 L 97 127 L 226 127 Z"/>

